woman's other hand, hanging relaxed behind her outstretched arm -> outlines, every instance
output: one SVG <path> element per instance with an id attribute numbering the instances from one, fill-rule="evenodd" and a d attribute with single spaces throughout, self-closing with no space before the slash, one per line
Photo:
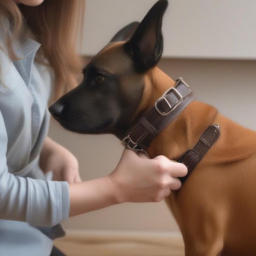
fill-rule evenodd
<path id="1" fill-rule="evenodd" d="M 44 173 L 53 172 L 52 180 L 67 181 L 70 184 L 81 182 L 76 157 L 49 137 L 44 142 L 39 164 Z"/>

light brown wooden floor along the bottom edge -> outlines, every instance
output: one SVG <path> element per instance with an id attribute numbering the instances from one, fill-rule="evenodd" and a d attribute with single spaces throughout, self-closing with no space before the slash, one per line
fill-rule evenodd
<path id="1" fill-rule="evenodd" d="M 176 233 L 67 231 L 55 246 L 67 256 L 184 256 Z"/>

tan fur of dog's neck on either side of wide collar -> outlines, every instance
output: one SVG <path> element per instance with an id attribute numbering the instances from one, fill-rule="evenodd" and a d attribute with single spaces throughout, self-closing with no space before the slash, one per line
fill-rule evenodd
<path id="1" fill-rule="evenodd" d="M 147 102 L 150 107 L 168 88 L 175 85 L 175 81 L 155 68 L 149 80 L 152 92 L 148 92 Z M 179 116 L 168 125 L 151 143 L 147 152 L 150 157 L 165 155 L 169 159 L 177 160 L 188 149 L 198 142 L 207 127 L 213 124 L 217 110 L 202 102 L 192 102 Z"/>

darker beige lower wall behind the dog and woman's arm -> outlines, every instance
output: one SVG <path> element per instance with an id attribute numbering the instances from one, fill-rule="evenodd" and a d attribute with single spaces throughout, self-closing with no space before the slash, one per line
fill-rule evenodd
<path id="1" fill-rule="evenodd" d="M 196 99 L 214 105 L 236 122 L 256 130 L 256 61 L 162 59 L 159 66 L 172 78 L 183 76 L 194 90 Z M 123 149 L 119 140 L 111 135 L 73 134 L 64 131 L 53 120 L 49 135 L 76 155 L 83 180 L 110 173 Z M 70 218 L 64 222 L 64 227 L 178 230 L 164 202 L 116 205 Z"/>

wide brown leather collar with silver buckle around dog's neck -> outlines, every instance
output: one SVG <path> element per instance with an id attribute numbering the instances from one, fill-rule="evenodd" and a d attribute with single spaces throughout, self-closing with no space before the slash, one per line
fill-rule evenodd
<path id="1" fill-rule="evenodd" d="M 167 90 L 154 107 L 141 116 L 127 131 L 122 142 L 134 151 L 145 151 L 151 141 L 166 128 L 193 100 L 192 90 L 181 78 Z"/>

